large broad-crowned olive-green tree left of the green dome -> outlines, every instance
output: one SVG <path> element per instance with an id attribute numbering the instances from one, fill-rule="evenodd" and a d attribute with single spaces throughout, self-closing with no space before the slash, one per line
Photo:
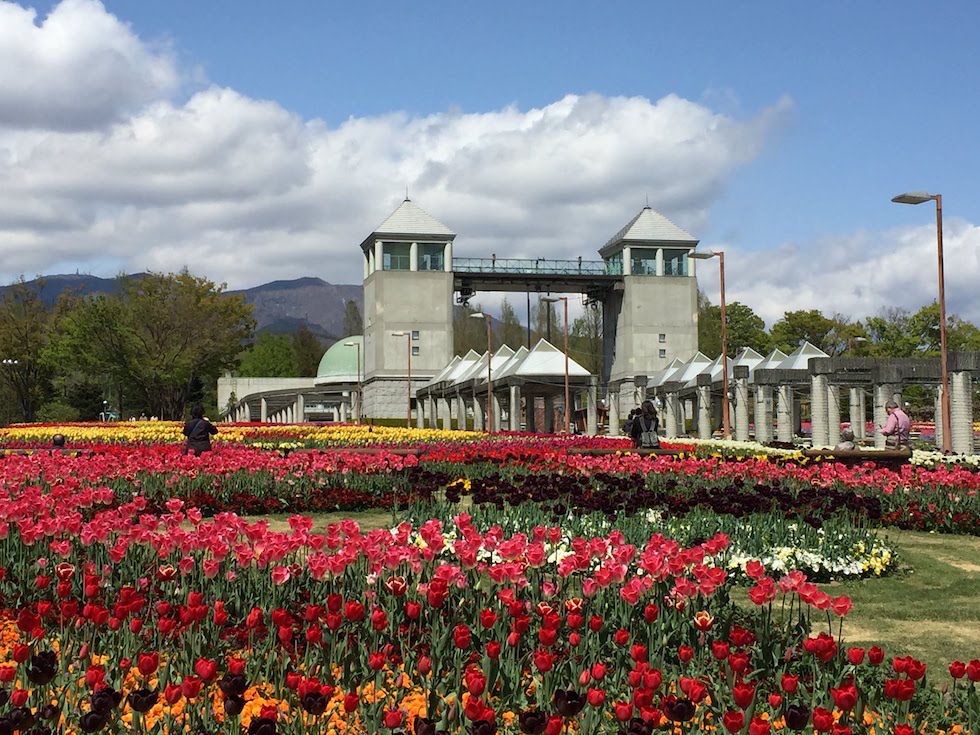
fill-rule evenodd
<path id="1" fill-rule="evenodd" d="M 186 270 L 120 278 L 117 293 L 77 302 L 60 350 L 132 391 L 145 410 L 181 418 L 194 393 L 235 366 L 252 334 L 252 306 L 224 289 Z"/>

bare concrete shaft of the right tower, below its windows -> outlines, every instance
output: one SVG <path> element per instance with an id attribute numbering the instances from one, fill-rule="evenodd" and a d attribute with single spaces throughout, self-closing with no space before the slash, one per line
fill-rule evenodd
<path id="1" fill-rule="evenodd" d="M 616 331 L 603 340 L 607 380 L 652 375 L 675 357 L 689 358 L 698 349 L 698 289 L 691 276 L 624 276 L 619 294 L 603 309 L 605 324 Z M 612 321 L 614 320 L 614 321 Z M 660 335 L 665 341 L 660 342 Z M 665 350 L 665 357 L 660 357 Z"/>

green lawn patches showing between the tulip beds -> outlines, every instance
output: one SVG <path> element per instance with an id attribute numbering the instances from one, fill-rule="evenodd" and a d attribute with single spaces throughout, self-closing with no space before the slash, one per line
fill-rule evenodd
<path id="1" fill-rule="evenodd" d="M 289 530 L 286 515 L 261 518 L 272 530 Z M 377 511 L 313 518 L 316 528 L 344 518 L 355 518 L 364 530 L 392 525 L 390 513 Z M 948 680 L 950 661 L 980 658 L 980 537 L 894 529 L 882 535 L 898 551 L 897 573 L 823 585 L 854 603 L 844 621 L 844 645 L 879 645 L 889 659 L 913 656 L 928 665 L 933 682 Z"/>

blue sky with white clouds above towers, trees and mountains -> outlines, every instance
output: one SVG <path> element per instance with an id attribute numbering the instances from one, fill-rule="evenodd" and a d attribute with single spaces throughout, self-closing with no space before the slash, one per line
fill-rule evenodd
<path id="1" fill-rule="evenodd" d="M 972 0 L 0 0 L 0 281 L 359 283 L 407 193 L 459 257 L 598 259 L 649 204 L 767 323 L 862 319 L 936 298 L 935 207 L 891 202 L 925 190 L 980 323 L 977 27 Z"/>

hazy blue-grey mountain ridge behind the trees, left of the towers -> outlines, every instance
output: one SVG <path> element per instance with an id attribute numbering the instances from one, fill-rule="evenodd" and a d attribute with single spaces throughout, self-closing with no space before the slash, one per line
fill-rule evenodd
<path id="1" fill-rule="evenodd" d="M 139 278 L 141 273 L 125 276 Z M 40 289 L 40 283 L 44 288 Z M 56 274 L 40 276 L 26 282 L 27 286 L 40 290 L 45 304 L 54 304 L 66 291 L 80 295 L 115 293 L 119 282 L 115 278 L 100 278 L 83 274 Z M 12 286 L 0 287 L 0 294 Z M 307 327 L 320 339 L 335 341 L 340 338 L 344 326 L 347 302 L 354 300 L 364 313 L 364 288 L 361 285 L 335 285 L 322 278 L 306 276 L 288 281 L 271 281 L 253 288 L 228 291 L 242 294 L 253 305 L 256 331 L 292 334 Z"/>

